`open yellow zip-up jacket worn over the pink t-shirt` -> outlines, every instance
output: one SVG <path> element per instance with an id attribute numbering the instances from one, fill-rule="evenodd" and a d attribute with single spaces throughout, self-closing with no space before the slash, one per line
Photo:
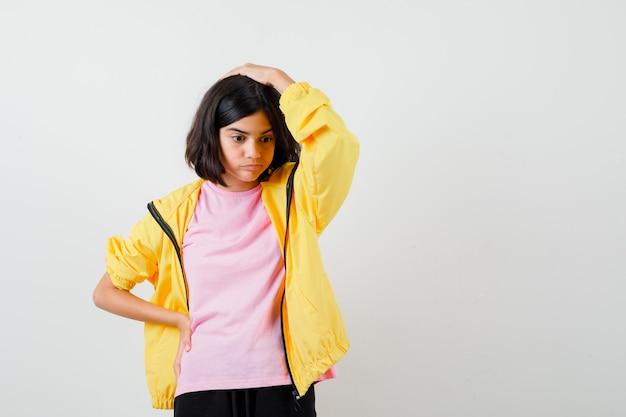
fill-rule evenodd
<path id="1" fill-rule="evenodd" d="M 286 233 L 285 187 L 294 163 L 277 169 L 261 183 L 262 200 L 274 225 L 283 253 L 286 278 L 282 305 L 283 337 L 288 369 L 300 395 L 346 353 L 348 341 L 318 245 L 318 237 L 348 195 L 359 143 L 328 98 L 301 82 L 287 88 L 280 99 L 287 126 L 302 145 L 295 171 L 289 231 Z M 107 272 L 125 290 L 149 281 L 152 303 L 188 313 L 187 286 L 177 251 L 193 215 L 198 179 L 153 201 L 172 230 L 172 244 L 152 214 L 139 221 L 128 238 L 114 236 L 106 251 Z M 282 247 L 284 242 L 287 247 Z M 174 407 L 174 359 L 179 332 L 174 327 L 145 324 L 145 368 L 152 406 Z"/>

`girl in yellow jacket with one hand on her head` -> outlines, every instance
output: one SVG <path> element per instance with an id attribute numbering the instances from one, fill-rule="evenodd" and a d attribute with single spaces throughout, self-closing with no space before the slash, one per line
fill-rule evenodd
<path id="1" fill-rule="evenodd" d="M 246 64 L 205 94 L 185 158 L 199 179 L 106 249 L 96 306 L 145 322 L 152 405 L 177 417 L 315 416 L 349 341 L 317 239 L 359 143 L 329 99 Z M 149 301 L 132 294 L 148 281 Z"/>

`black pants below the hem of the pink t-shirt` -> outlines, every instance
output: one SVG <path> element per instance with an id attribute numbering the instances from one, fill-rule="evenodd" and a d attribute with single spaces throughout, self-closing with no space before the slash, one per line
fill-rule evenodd
<path id="1" fill-rule="evenodd" d="M 174 417 L 315 417 L 313 386 L 294 398 L 291 386 L 189 392 L 174 399 Z"/>

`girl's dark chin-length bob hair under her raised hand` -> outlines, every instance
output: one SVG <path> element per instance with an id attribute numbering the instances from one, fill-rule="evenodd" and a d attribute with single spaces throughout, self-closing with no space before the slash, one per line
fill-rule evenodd
<path id="1" fill-rule="evenodd" d="M 187 134 L 187 165 L 199 177 L 225 186 L 222 174 L 226 171 L 220 161 L 220 129 L 259 111 L 267 115 L 275 140 L 272 163 L 259 179 L 265 181 L 285 162 L 297 161 L 300 145 L 287 129 L 279 100 L 280 93 L 275 88 L 242 75 L 213 84 L 204 94 Z"/>

